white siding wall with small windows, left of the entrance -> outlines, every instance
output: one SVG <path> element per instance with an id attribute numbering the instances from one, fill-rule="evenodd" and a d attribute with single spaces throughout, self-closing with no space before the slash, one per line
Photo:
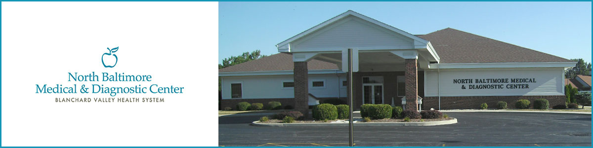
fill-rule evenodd
<path id="1" fill-rule="evenodd" d="M 283 88 L 282 82 L 292 82 L 292 75 L 283 76 L 227 76 L 222 78 L 222 99 L 231 99 L 231 83 L 243 83 L 242 99 L 294 98 L 293 88 Z M 341 75 L 340 79 L 345 79 Z M 313 88 L 313 81 L 325 81 L 324 88 Z M 346 97 L 346 88 L 335 74 L 309 75 L 309 93 L 318 98 Z"/>

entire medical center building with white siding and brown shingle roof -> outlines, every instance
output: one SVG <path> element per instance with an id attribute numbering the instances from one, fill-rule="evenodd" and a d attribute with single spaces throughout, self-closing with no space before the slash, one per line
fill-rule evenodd
<path id="1" fill-rule="evenodd" d="M 219 69 L 223 107 L 280 101 L 307 114 L 309 94 L 345 99 L 348 49 L 357 109 L 391 104 L 416 110 L 419 99 L 422 109 L 437 110 L 537 98 L 564 104 L 564 70 L 576 63 L 452 28 L 412 35 L 354 11 L 276 47 L 278 54 Z"/>

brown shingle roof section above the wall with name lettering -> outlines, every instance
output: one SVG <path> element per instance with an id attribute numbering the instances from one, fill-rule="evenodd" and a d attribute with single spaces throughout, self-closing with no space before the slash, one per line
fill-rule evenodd
<path id="1" fill-rule="evenodd" d="M 572 62 L 562 57 L 453 28 L 419 36 L 431 41 L 439 63 Z"/>

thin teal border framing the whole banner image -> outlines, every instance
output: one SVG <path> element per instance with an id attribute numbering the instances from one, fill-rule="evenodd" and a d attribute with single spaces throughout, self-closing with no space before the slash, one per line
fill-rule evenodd
<path id="1" fill-rule="evenodd" d="M 220 0 L 220 1 L 213 1 L 213 0 L 202 0 L 203 2 L 250 2 L 250 1 L 256 1 L 256 0 Z M 164 1 L 164 0 L 123 0 L 123 1 L 117 1 L 117 0 L 0 0 L 0 147 L 5 147 L 2 146 L 2 2 L 202 2 L 200 0 L 173 0 L 173 1 Z M 293 0 L 293 1 L 302 1 L 302 2 L 317 2 L 315 0 Z M 361 1 L 361 0 L 320 0 L 321 2 L 355 2 L 355 1 Z M 372 2 L 378 2 L 378 1 L 405 1 L 405 0 L 372 0 Z M 409 0 L 410 1 L 410 0 Z M 411 0 L 411 1 L 415 1 L 415 0 Z M 559 0 L 517 0 L 517 1 L 521 1 L 521 2 L 568 2 L 568 1 L 559 1 Z M 278 0 L 278 1 L 272 1 L 272 0 L 261 0 L 261 1 L 257 1 L 257 2 L 292 2 L 291 0 Z M 371 1 L 369 1 L 371 2 Z M 446 1 L 446 0 L 425 0 L 425 1 L 416 1 L 416 2 L 514 2 L 513 0 L 482 0 L 482 1 L 477 1 L 477 0 L 452 0 L 452 1 Z M 570 0 L 570 2 L 592 2 L 591 6 L 593 7 L 593 0 Z M 592 27 L 593 28 L 593 27 Z M 593 40 L 592 40 L 593 41 Z M 217 49 L 218 50 L 218 49 Z M 593 50 L 593 49 L 592 49 Z M 591 54 L 593 56 L 593 53 Z M 593 122 L 593 120 L 592 120 Z M 592 131 L 593 131 L 593 126 L 592 126 Z M 593 137 L 591 138 L 593 141 Z M 42 146 L 42 147 L 48 147 L 48 146 Z M 64 147 L 64 146 L 59 146 L 59 147 Z M 75 146 L 75 147 L 96 147 L 96 146 Z M 106 146 L 101 146 L 101 147 L 106 147 Z M 110 146 L 107 146 L 110 147 Z M 113 146 L 113 147 L 123 147 L 123 146 Z M 142 146 L 132 146 L 132 147 L 142 147 Z M 155 147 L 171 147 L 171 146 L 155 146 Z M 191 147 L 209 147 L 209 146 L 191 146 Z M 315 146 L 315 147 L 321 147 L 321 146 Z M 498 147 L 498 146 L 497 146 Z M 23 147 L 23 148 L 29 148 L 29 146 L 27 147 Z M 74 148 L 74 147 L 73 147 Z"/>

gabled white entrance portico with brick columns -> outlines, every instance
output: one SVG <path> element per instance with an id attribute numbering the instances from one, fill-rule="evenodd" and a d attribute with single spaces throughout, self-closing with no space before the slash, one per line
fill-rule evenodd
<path id="1" fill-rule="evenodd" d="M 304 114 L 308 113 L 307 62 L 311 59 L 336 63 L 347 72 L 347 50 L 352 49 L 353 107 L 363 103 L 399 105 L 401 98 L 406 98 L 406 110 L 417 110 L 419 71 L 439 62 L 429 41 L 354 11 L 276 46 L 279 52 L 292 54 L 295 109 Z"/>

